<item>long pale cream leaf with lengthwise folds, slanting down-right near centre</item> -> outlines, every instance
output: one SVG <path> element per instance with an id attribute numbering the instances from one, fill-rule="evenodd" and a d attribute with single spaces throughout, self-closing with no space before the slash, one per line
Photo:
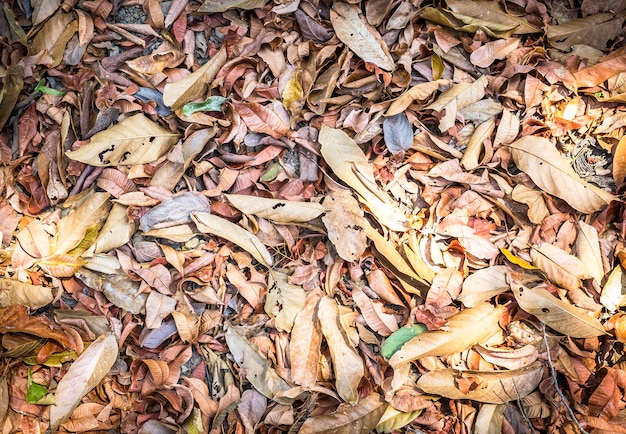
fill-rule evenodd
<path id="1" fill-rule="evenodd" d="M 376 181 L 365 154 L 356 142 L 342 130 L 322 125 L 318 141 L 321 153 L 330 168 L 352 187 L 379 223 L 394 231 L 405 231 L 406 216 L 383 192 Z"/>

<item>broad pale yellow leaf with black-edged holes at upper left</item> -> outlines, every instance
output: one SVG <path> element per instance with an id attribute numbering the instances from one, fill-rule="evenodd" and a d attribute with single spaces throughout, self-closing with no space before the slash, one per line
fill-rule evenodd
<path id="1" fill-rule="evenodd" d="M 94 134 L 88 144 L 65 154 L 92 166 L 132 166 L 159 159 L 177 141 L 177 133 L 139 113 Z"/>

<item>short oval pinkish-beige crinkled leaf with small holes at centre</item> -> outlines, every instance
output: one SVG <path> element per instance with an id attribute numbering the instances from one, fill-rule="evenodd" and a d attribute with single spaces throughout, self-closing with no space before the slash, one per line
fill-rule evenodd
<path id="1" fill-rule="evenodd" d="M 328 238 L 337 254 L 346 261 L 356 261 L 367 248 L 363 227 L 363 210 L 347 190 L 332 191 L 323 202 L 326 215 L 322 217 Z"/>

